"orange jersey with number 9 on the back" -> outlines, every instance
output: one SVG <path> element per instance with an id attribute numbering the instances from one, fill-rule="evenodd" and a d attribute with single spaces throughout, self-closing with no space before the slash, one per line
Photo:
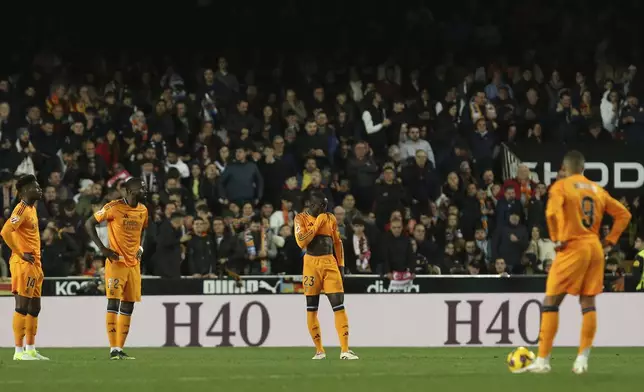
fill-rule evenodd
<path id="1" fill-rule="evenodd" d="M 550 238 L 555 242 L 599 238 L 604 213 L 614 219 L 606 240 L 615 244 L 631 219 L 620 202 L 581 174 L 560 179 L 550 188 L 546 220 Z"/>

